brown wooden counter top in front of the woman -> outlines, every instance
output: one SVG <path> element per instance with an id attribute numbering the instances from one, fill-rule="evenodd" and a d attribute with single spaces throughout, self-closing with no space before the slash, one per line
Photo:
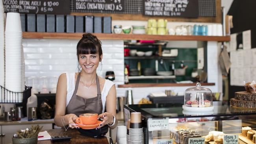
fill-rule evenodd
<path id="1" fill-rule="evenodd" d="M 47 132 L 52 136 L 62 136 L 68 135 L 72 137 L 69 142 L 54 142 L 51 140 L 41 140 L 38 141 L 37 144 L 109 144 L 108 139 L 106 137 L 103 138 L 93 138 L 80 135 L 80 132 L 77 129 L 68 129 L 65 131 L 64 129 L 49 129 Z"/>

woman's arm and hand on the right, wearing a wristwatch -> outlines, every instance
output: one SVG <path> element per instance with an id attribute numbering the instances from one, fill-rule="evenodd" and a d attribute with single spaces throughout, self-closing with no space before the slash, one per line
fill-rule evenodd
<path id="1" fill-rule="evenodd" d="M 102 121 L 100 126 L 98 126 L 96 129 L 106 124 L 109 124 L 109 125 L 113 124 L 114 116 L 116 117 L 116 98 L 117 98 L 117 92 L 115 89 L 115 85 L 113 85 L 108 92 L 108 96 L 106 97 L 107 112 L 102 113 L 98 116 L 99 118 L 103 118 L 104 120 Z M 118 121 L 115 120 L 115 124 L 113 126 L 110 126 L 109 128 L 114 129 L 117 126 L 117 123 Z"/>

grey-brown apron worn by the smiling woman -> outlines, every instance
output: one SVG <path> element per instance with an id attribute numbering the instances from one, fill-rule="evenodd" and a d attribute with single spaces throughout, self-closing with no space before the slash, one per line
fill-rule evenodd
<path id="1" fill-rule="evenodd" d="M 102 113 L 102 100 L 100 92 L 100 82 L 96 74 L 96 85 L 97 85 L 97 96 L 94 98 L 83 98 L 76 95 L 78 85 L 80 81 L 80 73 L 76 78 L 76 86 L 74 93 L 69 101 L 69 104 L 66 107 L 66 114 L 76 114 L 79 117 L 83 113 Z"/>

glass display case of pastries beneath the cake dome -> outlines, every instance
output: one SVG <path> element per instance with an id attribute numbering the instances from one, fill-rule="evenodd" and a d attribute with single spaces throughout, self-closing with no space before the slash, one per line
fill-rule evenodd
<path id="1" fill-rule="evenodd" d="M 173 140 L 173 144 L 190 144 L 188 138 L 222 144 L 224 134 L 237 135 L 239 143 L 255 144 L 255 135 L 252 139 L 242 135 L 242 127 L 249 126 L 255 134 L 256 109 L 236 109 L 215 102 L 213 105 L 213 113 L 184 113 L 182 104 L 124 105 L 124 125 L 130 113 L 140 112 L 144 144 L 168 143 L 168 140 Z"/>

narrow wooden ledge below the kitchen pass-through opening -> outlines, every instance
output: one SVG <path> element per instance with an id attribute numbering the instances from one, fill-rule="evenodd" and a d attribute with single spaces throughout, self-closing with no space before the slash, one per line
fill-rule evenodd
<path id="1" fill-rule="evenodd" d="M 202 86 L 215 85 L 215 83 L 201 83 Z M 119 88 L 129 88 L 129 87 L 185 87 L 192 86 L 195 87 L 196 83 L 131 83 L 126 85 L 118 85 Z"/>

